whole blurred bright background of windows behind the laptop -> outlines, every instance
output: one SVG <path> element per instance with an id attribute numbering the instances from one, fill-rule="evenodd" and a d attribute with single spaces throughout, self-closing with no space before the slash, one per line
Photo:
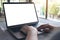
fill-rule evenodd
<path id="1" fill-rule="evenodd" d="M 60 0 L 0 0 L 0 20 L 4 17 L 3 2 L 34 2 L 38 17 L 60 22 Z"/>

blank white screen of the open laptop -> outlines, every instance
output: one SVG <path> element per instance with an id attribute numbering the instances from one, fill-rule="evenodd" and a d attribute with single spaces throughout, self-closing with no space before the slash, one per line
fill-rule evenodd
<path id="1" fill-rule="evenodd" d="M 34 4 L 4 4 L 7 26 L 36 22 Z"/>

